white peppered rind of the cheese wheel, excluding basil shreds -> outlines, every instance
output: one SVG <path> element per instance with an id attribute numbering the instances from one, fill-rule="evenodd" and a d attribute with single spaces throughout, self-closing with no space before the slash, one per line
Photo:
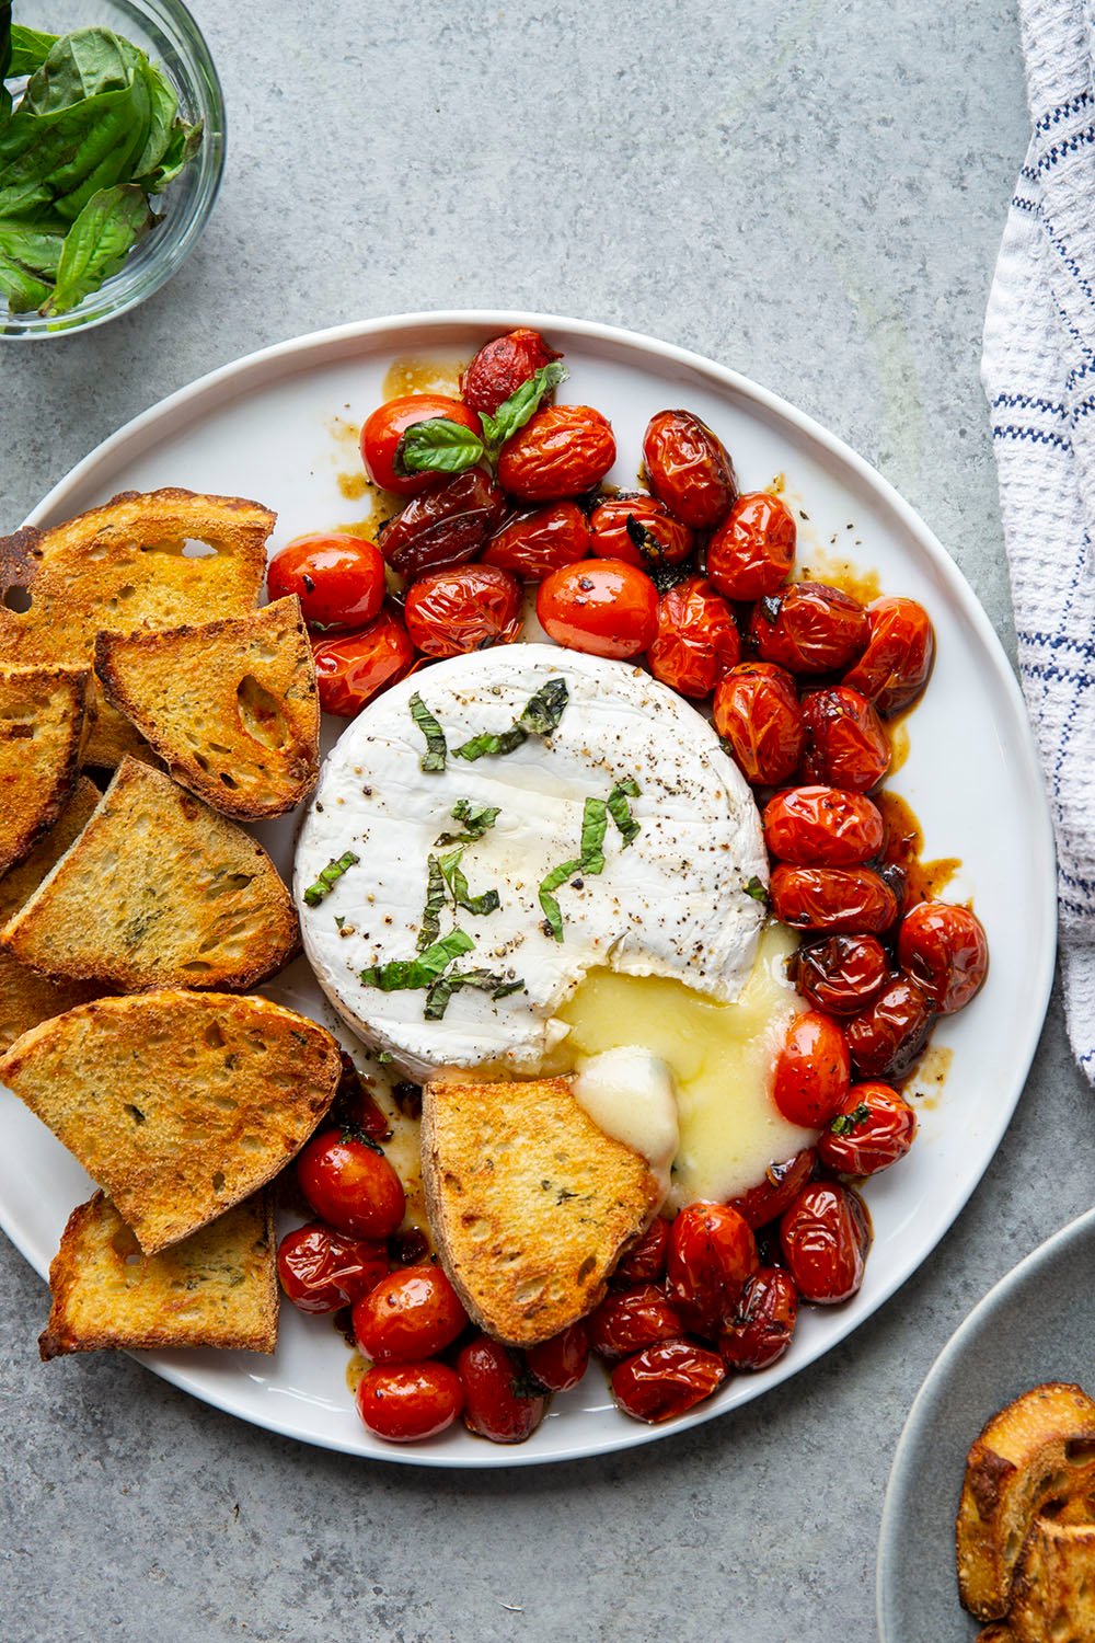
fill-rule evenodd
<path id="1" fill-rule="evenodd" d="M 570 700 L 550 741 L 530 738 L 506 756 L 447 761 L 425 774 L 422 733 L 410 715 L 417 692 L 445 728 L 450 749 L 481 731 L 504 731 L 548 679 Z M 607 798 L 632 777 L 639 836 L 609 822 L 604 872 L 580 876 L 557 895 L 563 941 L 543 927 L 543 876 L 576 858 L 588 797 Z M 493 1001 L 456 992 L 440 1022 L 424 1020 L 422 991 L 381 992 L 360 973 L 415 956 L 427 858 L 442 833 L 460 831 L 456 800 L 497 805 L 494 828 L 470 845 L 463 871 L 473 895 L 497 889 L 497 912 L 473 917 L 451 905 L 474 938 L 458 968 L 520 978 L 522 991 Z M 317 907 L 304 889 L 343 853 L 360 863 Z M 440 662 L 371 703 L 328 754 L 297 843 L 294 892 L 305 953 L 345 1020 L 412 1076 L 494 1063 L 537 1070 L 565 1035 L 555 1019 L 594 964 L 637 976 L 671 976 L 716 999 L 745 986 L 763 918 L 750 879 L 768 881 L 752 794 L 712 728 L 640 669 L 555 646 L 519 644 Z M 341 930 L 337 923 L 341 920 Z"/>

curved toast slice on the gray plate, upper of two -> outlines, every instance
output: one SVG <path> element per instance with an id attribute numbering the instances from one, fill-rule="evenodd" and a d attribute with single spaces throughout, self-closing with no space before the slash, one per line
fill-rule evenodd
<path id="1" fill-rule="evenodd" d="M 1008 1613 L 1034 1518 L 1095 1487 L 1095 1400 L 1049 1382 L 988 1421 L 967 1462 L 957 1518 L 959 1590 L 978 1620 Z"/>

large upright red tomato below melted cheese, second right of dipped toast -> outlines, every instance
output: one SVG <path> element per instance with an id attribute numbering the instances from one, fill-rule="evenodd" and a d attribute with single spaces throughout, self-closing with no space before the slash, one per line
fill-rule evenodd
<path id="1" fill-rule="evenodd" d="M 757 1240 L 737 1209 L 688 1204 L 670 1227 L 670 1305 L 688 1329 L 714 1339 L 757 1263 Z"/>

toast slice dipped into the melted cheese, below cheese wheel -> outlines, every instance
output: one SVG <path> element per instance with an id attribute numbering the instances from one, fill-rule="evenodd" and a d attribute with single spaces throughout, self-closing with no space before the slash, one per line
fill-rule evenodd
<path id="1" fill-rule="evenodd" d="M 453 1288 L 511 1346 L 596 1306 L 662 1203 L 647 1160 L 598 1129 L 565 1078 L 427 1084 L 422 1185 Z"/>

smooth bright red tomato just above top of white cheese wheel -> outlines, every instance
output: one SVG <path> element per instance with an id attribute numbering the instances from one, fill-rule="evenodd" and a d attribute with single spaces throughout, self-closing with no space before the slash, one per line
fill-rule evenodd
<path id="1" fill-rule="evenodd" d="M 537 593 L 543 631 L 570 651 L 627 660 L 648 651 L 658 631 L 650 577 L 619 559 L 583 559 L 555 570 Z"/>

